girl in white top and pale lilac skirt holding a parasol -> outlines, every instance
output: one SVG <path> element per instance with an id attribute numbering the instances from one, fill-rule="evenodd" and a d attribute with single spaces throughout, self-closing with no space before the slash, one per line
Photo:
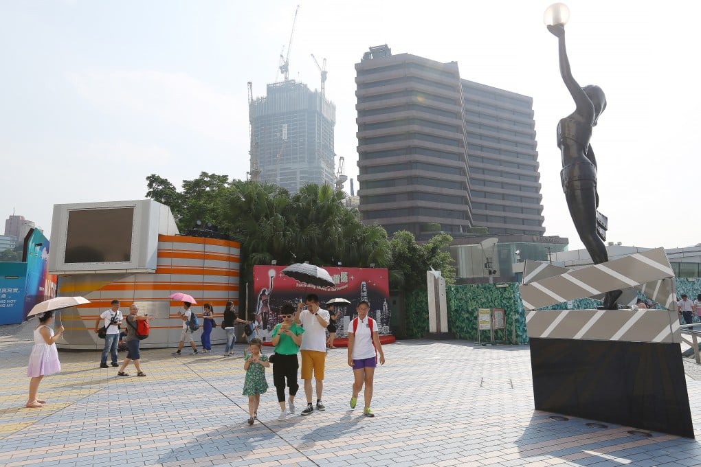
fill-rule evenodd
<path id="1" fill-rule="evenodd" d="M 41 379 L 61 371 L 55 342 L 62 335 L 63 326 L 59 326 L 56 333 L 50 328 L 53 324 L 53 311 L 40 313 L 36 317 L 39 325 L 34 328 L 34 347 L 27 365 L 27 377 L 32 379 L 29 379 L 29 399 L 25 406 L 30 409 L 42 407 L 46 403 L 46 400 L 36 398 Z"/>

